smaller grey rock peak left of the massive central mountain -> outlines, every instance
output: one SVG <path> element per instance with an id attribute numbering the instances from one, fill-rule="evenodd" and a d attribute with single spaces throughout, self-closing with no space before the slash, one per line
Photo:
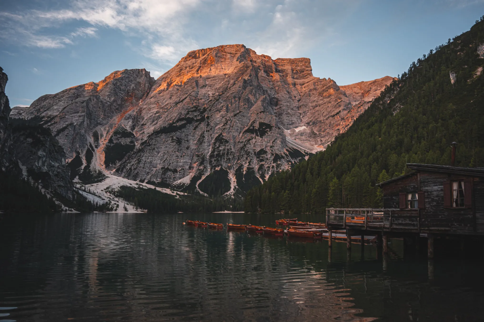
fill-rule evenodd
<path id="1" fill-rule="evenodd" d="M 99 83 L 44 95 L 27 108 L 15 107 L 10 117 L 14 123 L 29 122 L 49 129 L 66 154 L 71 177 L 79 175 L 84 182 L 93 182 L 103 178 L 106 152 L 109 166 L 125 155 L 110 153 L 109 140 L 115 133 L 133 130 L 134 114 L 129 112 L 138 108 L 153 83 L 144 69 L 115 71 Z"/>

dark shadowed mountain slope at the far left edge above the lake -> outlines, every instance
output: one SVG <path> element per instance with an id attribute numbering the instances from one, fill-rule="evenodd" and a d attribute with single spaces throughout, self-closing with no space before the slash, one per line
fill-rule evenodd
<path id="1" fill-rule="evenodd" d="M 0 210 L 60 211 L 47 189 L 73 198 L 62 148 L 41 127 L 10 124 L 7 81 L 0 68 Z"/>

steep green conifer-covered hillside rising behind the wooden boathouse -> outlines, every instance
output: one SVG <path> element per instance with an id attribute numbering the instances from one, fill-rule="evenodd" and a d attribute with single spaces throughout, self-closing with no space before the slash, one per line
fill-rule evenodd
<path id="1" fill-rule="evenodd" d="M 245 211 L 381 207 L 406 163 L 484 167 L 484 21 L 413 62 L 331 146 L 251 189 Z"/>

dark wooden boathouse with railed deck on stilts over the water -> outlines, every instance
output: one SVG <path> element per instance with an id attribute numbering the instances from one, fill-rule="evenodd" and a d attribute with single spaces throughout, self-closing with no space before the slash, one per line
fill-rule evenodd
<path id="1" fill-rule="evenodd" d="M 382 209 L 329 208 L 330 231 L 376 235 L 383 255 L 388 238 L 427 237 L 428 258 L 434 257 L 434 238 L 484 238 L 484 168 L 407 164 L 412 172 L 378 185 Z"/>

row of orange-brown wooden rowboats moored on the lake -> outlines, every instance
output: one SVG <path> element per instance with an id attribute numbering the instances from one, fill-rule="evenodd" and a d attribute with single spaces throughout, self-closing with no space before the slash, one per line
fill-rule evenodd
<path id="1" fill-rule="evenodd" d="M 287 234 L 290 237 L 303 237 L 303 238 L 322 238 L 323 233 L 327 233 L 328 229 L 326 224 L 323 223 L 309 223 L 300 222 L 297 218 L 293 219 L 278 219 L 275 221 L 277 225 L 287 226 L 286 229 L 272 228 L 266 226 L 257 226 L 252 224 L 229 224 L 227 223 L 228 230 L 245 230 L 254 233 L 264 233 L 267 235 L 283 236 Z M 223 229 L 224 224 L 205 223 L 201 221 L 187 220 L 186 225 L 208 227 L 212 229 Z"/>

